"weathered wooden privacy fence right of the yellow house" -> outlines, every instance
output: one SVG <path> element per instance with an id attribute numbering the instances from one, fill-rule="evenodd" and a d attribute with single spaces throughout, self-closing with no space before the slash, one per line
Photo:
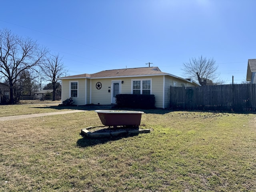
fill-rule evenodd
<path id="1" fill-rule="evenodd" d="M 170 108 L 256 111 L 256 84 L 171 86 Z"/>

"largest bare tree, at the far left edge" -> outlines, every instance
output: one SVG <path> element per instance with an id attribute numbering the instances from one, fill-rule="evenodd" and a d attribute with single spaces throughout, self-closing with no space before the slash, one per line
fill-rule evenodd
<path id="1" fill-rule="evenodd" d="M 14 100 L 14 86 L 24 70 L 33 70 L 41 64 L 47 50 L 40 48 L 36 41 L 0 30 L 0 76 L 10 87 L 10 103 Z"/>

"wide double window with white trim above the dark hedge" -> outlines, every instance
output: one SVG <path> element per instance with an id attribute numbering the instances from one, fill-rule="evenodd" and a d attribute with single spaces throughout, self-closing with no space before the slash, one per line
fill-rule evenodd
<path id="1" fill-rule="evenodd" d="M 151 80 L 132 80 L 132 94 L 151 94 Z"/>

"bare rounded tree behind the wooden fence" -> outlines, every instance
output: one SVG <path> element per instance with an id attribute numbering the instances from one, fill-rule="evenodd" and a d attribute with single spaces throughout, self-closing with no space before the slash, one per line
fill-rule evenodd
<path id="1" fill-rule="evenodd" d="M 202 86 L 214 81 L 218 75 L 216 71 L 218 66 L 215 64 L 214 58 L 207 59 L 206 57 L 191 58 L 189 62 L 183 63 L 184 74 L 188 78 L 198 80 L 198 83 Z"/>

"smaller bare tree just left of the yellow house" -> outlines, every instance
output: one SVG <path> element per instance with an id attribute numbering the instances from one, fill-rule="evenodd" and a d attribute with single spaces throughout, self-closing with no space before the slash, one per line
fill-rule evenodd
<path id="1" fill-rule="evenodd" d="M 46 77 L 45 80 L 52 83 L 52 100 L 56 100 L 56 90 L 60 86 L 58 78 L 61 76 L 66 76 L 67 70 L 65 69 L 64 64 L 61 62 L 59 54 L 49 55 L 41 66 L 42 72 Z"/>

